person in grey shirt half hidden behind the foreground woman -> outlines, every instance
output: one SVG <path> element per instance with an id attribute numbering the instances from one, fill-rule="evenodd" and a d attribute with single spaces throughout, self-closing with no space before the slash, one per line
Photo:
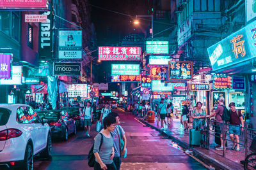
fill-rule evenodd
<path id="1" fill-rule="evenodd" d="M 120 124 L 120 117 L 118 113 L 112 112 L 109 113 L 109 116 L 115 117 L 116 119 L 116 128 L 113 132 L 113 141 L 114 141 L 114 148 L 115 148 L 115 157 L 113 158 L 113 162 L 116 166 L 116 169 L 119 170 L 121 166 L 121 157 L 124 156 L 126 152 L 126 145 L 127 145 L 127 139 L 125 137 L 125 132 L 122 126 L 118 125 Z M 124 141 L 124 148 L 122 150 L 121 148 L 121 139 Z"/>

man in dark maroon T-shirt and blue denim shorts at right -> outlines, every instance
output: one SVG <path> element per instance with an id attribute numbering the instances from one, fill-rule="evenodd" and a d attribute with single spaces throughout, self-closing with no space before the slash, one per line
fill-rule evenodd
<path id="1" fill-rule="evenodd" d="M 232 140 L 232 150 L 240 151 L 239 147 L 239 135 L 240 135 L 240 124 L 242 124 L 241 130 L 244 131 L 244 121 L 240 110 L 236 110 L 234 102 L 230 103 L 230 122 L 228 125 L 228 132 L 230 139 Z"/>

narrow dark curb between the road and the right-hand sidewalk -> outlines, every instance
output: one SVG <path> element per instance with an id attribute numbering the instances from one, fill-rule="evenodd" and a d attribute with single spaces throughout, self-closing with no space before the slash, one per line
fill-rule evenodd
<path id="1" fill-rule="evenodd" d="M 206 155 L 205 153 L 202 153 L 199 150 L 196 150 L 196 148 L 190 148 L 188 143 L 180 141 L 180 139 L 175 138 L 174 136 L 168 134 L 166 131 L 161 131 L 157 127 L 154 127 L 154 125 L 148 124 L 148 122 L 145 122 L 144 120 L 141 120 L 140 118 L 136 118 L 136 119 L 138 121 L 140 121 L 141 123 L 146 124 L 148 127 L 152 128 L 152 129 L 155 129 L 158 132 L 161 132 L 161 134 L 164 134 L 165 136 L 168 136 L 169 139 L 172 139 L 175 143 L 177 143 L 183 149 L 192 150 L 193 155 L 195 155 L 195 157 L 199 158 L 200 160 L 203 160 L 204 162 L 207 162 L 207 163 L 211 163 L 214 167 L 216 167 L 218 169 L 233 169 L 232 167 L 227 166 L 226 164 L 223 164 L 219 160 L 216 160 L 213 157 L 211 157 L 209 155 Z"/>

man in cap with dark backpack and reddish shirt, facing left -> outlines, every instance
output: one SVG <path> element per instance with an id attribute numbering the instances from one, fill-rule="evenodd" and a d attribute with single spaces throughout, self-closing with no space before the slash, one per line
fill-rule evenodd
<path id="1" fill-rule="evenodd" d="M 223 150 L 223 136 L 221 132 L 221 126 L 223 123 L 229 122 L 230 120 L 230 115 L 226 106 L 224 105 L 224 102 L 225 102 L 225 98 L 221 96 L 218 101 L 219 104 L 217 105 L 216 110 L 212 108 L 211 110 L 212 114 L 207 116 L 207 118 L 215 117 L 215 120 L 216 120 L 216 126 L 214 127 L 215 139 L 217 144 L 217 146 L 215 146 L 216 150 Z M 220 143 L 218 143 L 219 140 L 220 140 Z"/>

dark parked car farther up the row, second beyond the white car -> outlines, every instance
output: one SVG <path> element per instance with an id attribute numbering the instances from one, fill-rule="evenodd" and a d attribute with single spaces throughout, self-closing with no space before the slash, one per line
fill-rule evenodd
<path id="1" fill-rule="evenodd" d="M 84 113 L 81 108 L 62 108 L 61 110 L 68 112 L 68 115 L 76 121 L 77 128 L 84 129 Z"/>

